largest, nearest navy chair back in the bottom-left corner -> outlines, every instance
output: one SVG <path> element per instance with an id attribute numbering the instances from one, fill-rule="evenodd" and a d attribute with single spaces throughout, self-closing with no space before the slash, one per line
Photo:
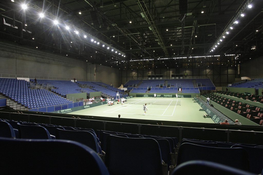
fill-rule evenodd
<path id="1" fill-rule="evenodd" d="M 97 153 L 78 142 L 0 138 L 0 145 L 1 174 L 109 175 Z"/>

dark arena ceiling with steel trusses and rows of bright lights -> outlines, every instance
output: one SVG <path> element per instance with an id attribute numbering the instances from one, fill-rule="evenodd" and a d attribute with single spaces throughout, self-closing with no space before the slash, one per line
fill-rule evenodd
<path id="1" fill-rule="evenodd" d="M 234 66 L 262 55 L 262 8 L 262 0 L 1 0 L 0 39 L 119 69 Z"/>

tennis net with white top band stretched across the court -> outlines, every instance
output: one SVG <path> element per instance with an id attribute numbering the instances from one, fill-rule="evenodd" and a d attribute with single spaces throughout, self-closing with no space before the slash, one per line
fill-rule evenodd
<path id="1" fill-rule="evenodd" d="M 135 100 L 126 99 L 128 104 L 151 104 L 151 105 L 181 105 L 181 100 Z"/>

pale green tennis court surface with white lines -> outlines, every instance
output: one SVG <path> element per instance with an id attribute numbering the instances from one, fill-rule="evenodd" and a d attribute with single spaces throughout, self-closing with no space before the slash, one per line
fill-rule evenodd
<path id="1" fill-rule="evenodd" d="M 89 115 L 116 117 L 121 115 L 121 118 L 127 119 L 147 119 L 147 120 L 163 120 L 163 121 L 183 121 L 183 122 L 201 122 L 214 123 L 210 118 L 204 118 L 205 111 L 199 111 L 201 108 L 198 103 L 195 103 L 193 98 L 149 98 L 149 97 L 134 97 L 133 103 L 123 106 L 117 102 L 113 106 L 100 105 L 89 109 L 83 109 L 68 114 Z M 131 101 L 129 101 L 131 102 Z M 144 116 L 143 104 L 147 103 L 147 112 Z M 178 105 L 181 104 L 181 105 Z"/>

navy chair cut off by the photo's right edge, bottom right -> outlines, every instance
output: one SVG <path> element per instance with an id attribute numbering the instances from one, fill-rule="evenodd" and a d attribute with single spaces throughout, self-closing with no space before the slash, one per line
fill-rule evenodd
<path id="1" fill-rule="evenodd" d="M 248 153 L 250 172 L 260 174 L 263 169 L 263 148 L 233 145 L 231 148 L 243 148 Z"/>

